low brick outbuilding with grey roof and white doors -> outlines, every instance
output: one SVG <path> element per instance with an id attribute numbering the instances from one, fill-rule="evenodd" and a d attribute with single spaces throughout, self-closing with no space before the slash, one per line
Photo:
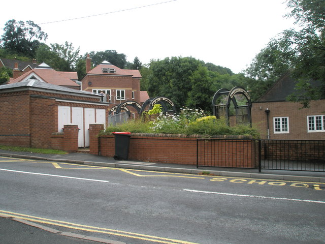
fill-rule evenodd
<path id="1" fill-rule="evenodd" d="M 36 79 L 1 85 L 0 144 L 72 151 L 87 147 L 89 124 L 107 125 L 109 105 L 100 100 L 97 94 Z"/>

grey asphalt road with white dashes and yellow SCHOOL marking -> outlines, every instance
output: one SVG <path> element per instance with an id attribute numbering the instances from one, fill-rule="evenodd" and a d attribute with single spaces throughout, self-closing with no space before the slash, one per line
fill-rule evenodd
<path id="1" fill-rule="evenodd" d="M 325 243 L 325 184 L 0 158 L 0 214 L 125 243 Z"/>

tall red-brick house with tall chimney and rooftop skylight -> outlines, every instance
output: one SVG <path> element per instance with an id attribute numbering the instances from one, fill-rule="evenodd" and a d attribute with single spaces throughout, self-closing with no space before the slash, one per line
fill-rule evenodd
<path id="1" fill-rule="evenodd" d="M 82 90 L 92 93 L 107 94 L 111 107 L 125 101 L 135 101 L 140 104 L 139 70 L 123 70 L 107 61 L 91 69 L 91 58 L 86 58 L 86 76 L 81 80 Z"/>

